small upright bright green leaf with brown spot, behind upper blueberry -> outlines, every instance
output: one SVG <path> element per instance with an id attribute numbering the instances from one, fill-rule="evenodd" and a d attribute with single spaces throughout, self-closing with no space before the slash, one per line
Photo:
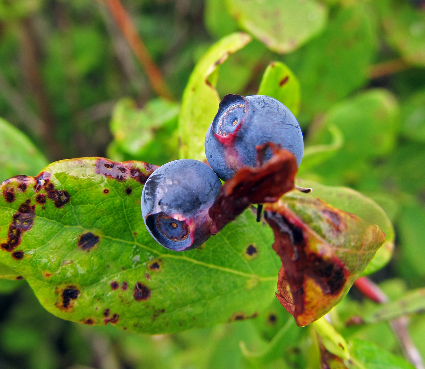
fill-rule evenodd
<path id="1" fill-rule="evenodd" d="M 267 95 L 279 100 L 294 115 L 300 110 L 300 82 L 292 70 L 281 62 L 271 62 L 266 68 L 258 95 Z"/>

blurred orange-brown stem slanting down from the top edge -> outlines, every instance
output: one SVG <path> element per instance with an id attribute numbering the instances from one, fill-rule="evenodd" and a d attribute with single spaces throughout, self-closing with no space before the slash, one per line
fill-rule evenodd
<path id="1" fill-rule="evenodd" d="M 142 38 L 139 36 L 136 28 L 134 27 L 130 15 L 122 6 L 120 0 L 106 0 L 106 3 L 108 4 L 111 14 L 115 18 L 116 23 L 124 34 L 125 39 L 133 50 L 133 53 L 142 64 L 153 90 L 158 94 L 158 96 L 166 99 L 173 99 L 170 91 L 165 85 L 161 70 L 159 70 L 158 66 L 153 62 Z"/>

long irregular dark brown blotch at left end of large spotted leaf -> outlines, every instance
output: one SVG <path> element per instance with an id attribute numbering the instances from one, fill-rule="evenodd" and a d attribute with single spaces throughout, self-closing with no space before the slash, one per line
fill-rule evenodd
<path id="1" fill-rule="evenodd" d="M 34 223 L 35 206 L 31 206 L 30 203 L 30 199 L 26 200 L 18 206 L 18 211 L 12 215 L 12 223 L 9 225 L 7 241 L 0 245 L 3 250 L 13 251 L 20 244 L 23 232 L 31 229 Z"/>

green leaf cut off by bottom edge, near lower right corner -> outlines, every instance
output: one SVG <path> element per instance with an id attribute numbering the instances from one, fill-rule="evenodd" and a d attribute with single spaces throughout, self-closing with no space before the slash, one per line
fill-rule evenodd
<path id="1" fill-rule="evenodd" d="M 404 358 L 393 355 L 371 342 L 353 339 L 348 346 L 360 368 L 414 369 L 414 366 Z"/>

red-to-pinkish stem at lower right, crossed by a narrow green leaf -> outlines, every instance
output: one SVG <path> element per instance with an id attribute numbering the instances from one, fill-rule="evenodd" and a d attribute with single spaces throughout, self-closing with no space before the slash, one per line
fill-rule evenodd
<path id="1" fill-rule="evenodd" d="M 367 277 L 360 277 L 354 282 L 354 286 L 368 299 L 375 301 L 378 304 L 388 302 L 388 296 Z M 412 341 L 409 332 L 409 318 L 402 315 L 396 319 L 391 320 L 390 326 L 399 341 L 400 347 L 405 358 L 410 361 L 416 369 L 425 369 L 419 350 L 416 348 Z"/>

